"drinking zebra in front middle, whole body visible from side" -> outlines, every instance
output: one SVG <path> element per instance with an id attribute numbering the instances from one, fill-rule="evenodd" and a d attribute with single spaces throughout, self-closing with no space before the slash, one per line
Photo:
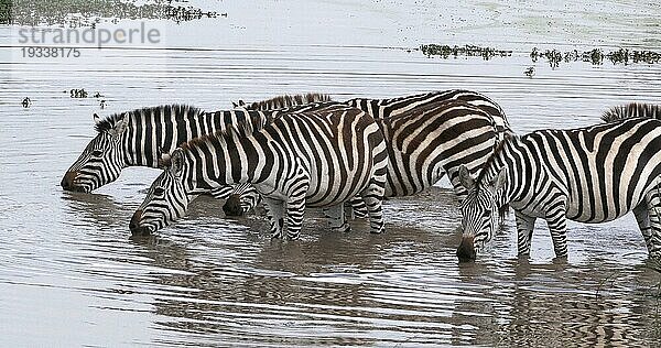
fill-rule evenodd
<path id="1" fill-rule="evenodd" d="M 305 206 L 330 207 L 348 227 L 342 203 L 359 195 L 367 203 L 370 231 L 383 231 L 381 199 L 388 154 L 379 127 L 349 107 L 284 113 L 242 131 L 229 129 L 174 150 L 169 167 L 153 182 L 133 214 L 133 236 L 149 235 L 185 214 L 201 193 L 250 183 L 262 195 L 274 238 L 296 239 Z"/>

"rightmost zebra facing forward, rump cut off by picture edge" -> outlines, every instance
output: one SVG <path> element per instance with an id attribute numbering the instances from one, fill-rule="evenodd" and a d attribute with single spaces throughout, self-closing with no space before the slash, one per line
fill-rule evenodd
<path id="1" fill-rule="evenodd" d="M 546 220 L 557 258 L 566 258 L 566 220 L 604 222 L 633 211 L 649 255 L 661 257 L 661 120 L 630 117 L 587 128 L 508 135 L 475 178 L 459 167 L 468 189 L 462 203 L 457 255 L 474 260 L 491 239 L 495 210 L 514 209 L 519 255 L 530 254 L 538 218 Z"/>

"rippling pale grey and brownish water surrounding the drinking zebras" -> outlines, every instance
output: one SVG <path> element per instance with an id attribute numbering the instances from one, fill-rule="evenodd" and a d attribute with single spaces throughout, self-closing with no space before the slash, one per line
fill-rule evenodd
<path id="1" fill-rule="evenodd" d="M 543 224 L 532 258 L 518 260 L 510 217 L 476 263 L 458 264 L 458 211 L 445 184 L 387 202 L 382 236 L 365 221 L 332 233 L 310 211 L 295 242 L 272 241 L 263 215 L 225 219 L 204 198 L 180 224 L 130 241 L 128 220 L 155 170 L 126 170 L 91 195 L 58 186 L 94 135 L 94 112 L 159 104 L 218 109 L 281 93 L 468 88 L 498 101 L 518 132 L 598 122 L 614 105 L 661 102 L 661 67 L 551 69 L 528 54 L 661 51 L 657 2 L 193 4 L 228 17 L 149 20 L 163 42 L 83 47 L 78 58 L 24 58 L 9 47 L 19 28 L 0 26 L 0 346 L 660 345 L 661 276 L 646 268 L 630 216 L 571 224 L 565 263 L 553 261 Z M 423 43 L 513 55 L 444 61 L 407 50 Z M 72 88 L 104 97 L 71 98 Z"/>

